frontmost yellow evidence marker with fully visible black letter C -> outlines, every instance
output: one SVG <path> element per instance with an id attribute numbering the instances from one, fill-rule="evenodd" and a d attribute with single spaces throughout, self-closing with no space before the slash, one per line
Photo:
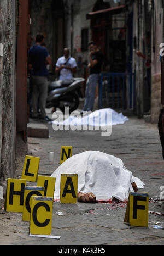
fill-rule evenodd
<path id="1" fill-rule="evenodd" d="M 31 200 L 30 233 L 50 235 L 52 230 L 53 197 L 35 197 Z"/>

